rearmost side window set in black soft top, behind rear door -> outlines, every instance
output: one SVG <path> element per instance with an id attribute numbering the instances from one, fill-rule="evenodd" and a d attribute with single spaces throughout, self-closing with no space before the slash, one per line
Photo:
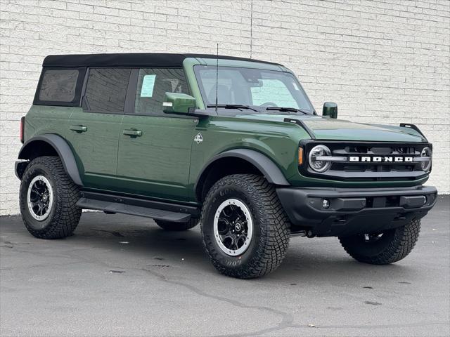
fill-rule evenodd
<path id="1" fill-rule="evenodd" d="M 34 104 L 79 106 L 86 68 L 44 68 Z"/>

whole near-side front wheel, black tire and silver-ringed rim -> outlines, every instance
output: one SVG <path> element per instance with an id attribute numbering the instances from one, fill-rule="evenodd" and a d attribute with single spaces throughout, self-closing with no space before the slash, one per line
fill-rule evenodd
<path id="1" fill-rule="evenodd" d="M 261 176 L 236 174 L 208 192 L 200 226 L 205 249 L 224 275 L 250 279 L 283 261 L 289 220 L 274 187 Z"/>

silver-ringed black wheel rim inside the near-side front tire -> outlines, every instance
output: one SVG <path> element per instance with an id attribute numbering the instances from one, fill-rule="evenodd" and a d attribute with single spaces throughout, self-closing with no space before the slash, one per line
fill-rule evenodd
<path id="1" fill-rule="evenodd" d="M 242 254 L 248 249 L 252 234 L 248 207 L 238 199 L 222 202 L 214 214 L 214 237 L 221 251 L 229 256 Z"/>

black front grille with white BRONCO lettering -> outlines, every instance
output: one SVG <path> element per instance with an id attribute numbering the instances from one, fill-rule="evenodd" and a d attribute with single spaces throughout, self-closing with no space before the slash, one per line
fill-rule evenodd
<path id="1" fill-rule="evenodd" d="M 420 162 L 373 162 L 374 157 L 420 157 L 424 147 L 431 147 L 428 143 L 340 143 L 327 141 L 307 141 L 301 144 L 304 147 L 304 162 L 308 162 L 308 154 L 316 145 L 326 145 L 330 148 L 333 157 L 363 157 L 371 159 L 370 162 L 335 161 L 330 169 L 323 173 L 312 170 L 309 165 L 299 166 L 304 176 L 314 176 L 344 181 L 378 181 L 378 180 L 417 180 L 428 173 L 423 171 Z"/>

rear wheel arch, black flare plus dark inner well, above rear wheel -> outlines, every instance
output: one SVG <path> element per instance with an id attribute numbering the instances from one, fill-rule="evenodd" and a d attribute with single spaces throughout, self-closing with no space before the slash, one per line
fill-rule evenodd
<path id="1" fill-rule="evenodd" d="M 34 136 L 25 142 L 18 155 L 18 159 L 22 159 L 22 161 L 15 163 L 15 175 L 21 179 L 30 160 L 36 157 L 55 155 L 60 157 L 65 172 L 73 182 L 82 186 L 82 179 L 79 176 L 77 161 L 75 161 L 72 149 L 64 138 L 53 133 Z"/>

